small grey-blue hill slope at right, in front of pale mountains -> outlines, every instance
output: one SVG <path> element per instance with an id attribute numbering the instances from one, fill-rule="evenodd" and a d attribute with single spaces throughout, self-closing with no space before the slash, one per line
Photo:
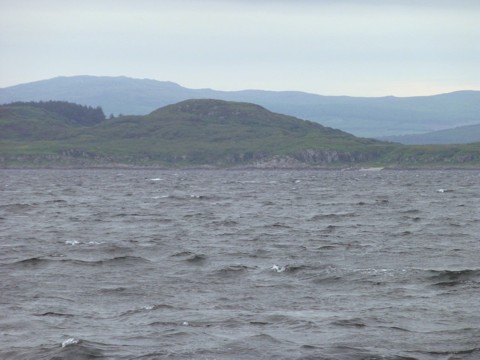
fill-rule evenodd
<path id="1" fill-rule="evenodd" d="M 467 144 L 480 142 L 480 124 L 460 126 L 454 129 L 434 131 L 425 134 L 387 136 L 380 138 L 401 144 Z"/>

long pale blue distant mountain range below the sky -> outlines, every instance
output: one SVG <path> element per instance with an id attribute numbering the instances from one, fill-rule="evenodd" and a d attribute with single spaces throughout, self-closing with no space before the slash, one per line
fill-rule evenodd
<path id="1" fill-rule="evenodd" d="M 172 82 L 95 76 L 57 77 L 0 89 L 0 104 L 64 100 L 101 106 L 107 115 L 145 115 L 165 105 L 205 98 L 255 103 L 270 111 L 372 138 L 480 124 L 480 91 L 362 98 L 295 91 L 188 89 Z M 458 138 L 458 142 L 467 141 L 470 138 Z"/>

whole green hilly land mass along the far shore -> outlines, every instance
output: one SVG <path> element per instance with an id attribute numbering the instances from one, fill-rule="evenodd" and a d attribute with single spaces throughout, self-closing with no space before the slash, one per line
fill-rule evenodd
<path id="1" fill-rule="evenodd" d="M 209 99 L 82 124 L 58 108 L 11 104 L 0 106 L 0 131 L 1 166 L 480 164 L 480 144 L 408 147 L 358 138 L 250 103 Z"/>

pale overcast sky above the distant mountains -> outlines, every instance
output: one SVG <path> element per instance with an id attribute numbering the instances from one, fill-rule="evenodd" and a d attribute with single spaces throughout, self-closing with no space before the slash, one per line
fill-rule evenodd
<path id="1" fill-rule="evenodd" d="M 128 76 L 188 88 L 480 90 L 480 0 L 0 0 L 0 87 Z"/>

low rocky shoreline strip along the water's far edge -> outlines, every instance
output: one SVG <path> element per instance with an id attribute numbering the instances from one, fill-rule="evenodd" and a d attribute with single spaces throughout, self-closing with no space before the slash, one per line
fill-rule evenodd
<path id="1" fill-rule="evenodd" d="M 392 154 L 373 156 L 363 153 L 339 152 L 336 150 L 312 151 L 291 155 L 267 155 L 265 153 L 238 153 L 223 159 L 193 162 L 186 156 L 156 159 L 143 156 L 108 156 L 82 150 L 70 149 L 57 154 L 0 156 L 0 167 L 240 167 L 256 169 L 308 169 L 308 168 L 361 168 L 378 166 L 390 168 L 480 168 L 480 151 L 458 154 L 452 157 Z"/>

